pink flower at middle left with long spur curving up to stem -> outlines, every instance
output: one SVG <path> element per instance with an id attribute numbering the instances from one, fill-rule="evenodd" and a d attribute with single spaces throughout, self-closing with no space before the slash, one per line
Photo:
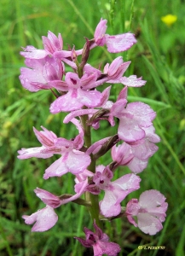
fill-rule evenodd
<path id="1" fill-rule="evenodd" d="M 31 157 L 49 158 L 53 154 L 62 154 L 61 158 L 45 170 L 43 178 L 58 176 L 61 177 L 66 172 L 77 174 L 84 172 L 87 166 L 90 166 L 90 155 L 85 154 L 78 149 L 82 148 L 84 144 L 84 131 L 80 128 L 78 120 L 72 120 L 77 125 L 79 135 L 73 141 L 66 140 L 65 138 L 56 137 L 55 133 L 43 128 L 43 131 L 38 131 L 33 128 L 36 136 L 42 147 L 38 148 L 22 148 L 18 151 L 20 160 L 28 159 Z M 80 130 L 81 129 L 81 130 Z"/>

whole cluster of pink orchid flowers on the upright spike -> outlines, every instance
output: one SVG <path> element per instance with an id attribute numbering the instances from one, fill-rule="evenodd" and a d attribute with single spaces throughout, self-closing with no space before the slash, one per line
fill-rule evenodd
<path id="1" fill-rule="evenodd" d="M 100 219 L 111 220 L 125 215 L 131 224 L 149 235 L 156 234 L 163 227 L 161 223 L 165 221 L 167 203 L 165 196 L 157 190 L 147 190 L 142 193 L 139 201 L 132 199 L 126 207 L 121 207 L 124 198 L 140 188 L 141 178 L 137 174 L 147 167 L 148 159 L 158 150 L 155 143 L 159 143 L 160 138 L 153 127 L 156 116 L 153 109 L 142 102 L 127 102 L 128 86 L 140 87 L 146 84 L 136 75 L 124 76 L 130 61 L 124 62 L 119 56 L 112 63 L 107 63 L 102 71 L 88 63 L 90 50 L 95 47 L 107 45 L 110 53 L 119 53 L 136 44 L 132 33 L 111 36 L 106 34 L 106 30 L 107 20 L 101 19 L 95 28 L 94 38 L 86 38 L 83 49 L 73 47 L 64 50 L 61 34 L 57 38 L 49 32 L 47 38 L 43 37 L 43 49 L 27 46 L 20 52 L 26 59 L 26 67 L 20 68 L 22 86 L 32 92 L 51 90 L 56 99 L 50 105 L 50 113 L 68 112 L 63 123 L 72 122 L 78 129 L 78 135 L 67 140 L 57 137 L 43 126 L 42 131 L 33 127 L 41 147 L 22 148 L 18 151 L 20 160 L 60 155 L 45 170 L 44 179 L 61 177 L 67 172 L 74 175 L 74 195 L 56 196 L 43 189 L 34 190 L 46 207 L 31 216 L 23 216 L 26 224 L 34 224 L 32 231 L 52 228 L 58 220 L 56 207 L 70 201 L 78 203 L 81 195 L 99 195 L 101 190 L 104 190 L 105 195 L 98 206 Z M 78 55 L 81 55 L 81 62 L 78 62 Z M 71 67 L 71 72 L 65 71 L 66 65 Z M 105 90 L 97 90 L 105 83 L 124 85 L 116 102 L 109 101 L 111 85 Z M 90 129 L 100 129 L 101 120 L 107 120 L 110 126 L 114 126 L 115 118 L 119 119 L 117 134 L 90 143 Z M 113 158 L 110 164 L 93 167 L 95 161 L 109 149 Z M 113 178 L 119 166 L 128 166 L 131 173 Z M 82 199 L 80 204 L 95 207 L 90 201 L 84 200 L 82 203 Z M 94 220 L 94 228 L 95 233 L 84 228 L 86 239 L 76 237 L 78 241 L 84 247 L 93 247 L 96 256 L 103 253 L 117 255 L 119 245 L 108 241 L 108 236 L 97 226 L 97 219 L 96 223 Z"/>

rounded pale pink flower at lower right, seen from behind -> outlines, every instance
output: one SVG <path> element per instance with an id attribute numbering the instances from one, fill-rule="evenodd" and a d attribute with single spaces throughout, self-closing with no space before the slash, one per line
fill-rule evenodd
<path id="1" fill-rule="evenodd" d="M 139 201 L 130 200 L 126 206 L 126 214 L 131 224 L 152 236 L 163 229 L 161 223 L 165 221 L 167 207 L 165 196 L 151 189 L 143 192 Z M 133 216 L 137 217 L 137 224 Z"/>

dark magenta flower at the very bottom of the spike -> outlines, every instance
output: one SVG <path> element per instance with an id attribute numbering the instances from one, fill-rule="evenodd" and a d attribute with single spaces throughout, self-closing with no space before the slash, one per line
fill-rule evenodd
<path id="1" fill-rule="evenodd" d="M 84 228 L 85 240 L 80 237 L 74 238 L 78 239 L 84 247 L 93 247 L 95 256 L 102 256 L 103 254 L 116 256 L 121 250 L 119 245 L 115 242 L 109 241 L 108 236 L 95 224 L 95 221 L 93 226 L 95 233 Z"/>

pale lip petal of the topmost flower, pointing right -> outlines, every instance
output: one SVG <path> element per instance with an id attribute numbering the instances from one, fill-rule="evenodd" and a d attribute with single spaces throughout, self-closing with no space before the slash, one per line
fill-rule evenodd
<path id="1" fill-rule="evenodd" d="M 122 52 L 130 49 L 133 44 L 136 44 L 136 38 L 132 33 L 124 33 L 116 36 L 106 35 L 107 50 L 111 53 Z"/>

